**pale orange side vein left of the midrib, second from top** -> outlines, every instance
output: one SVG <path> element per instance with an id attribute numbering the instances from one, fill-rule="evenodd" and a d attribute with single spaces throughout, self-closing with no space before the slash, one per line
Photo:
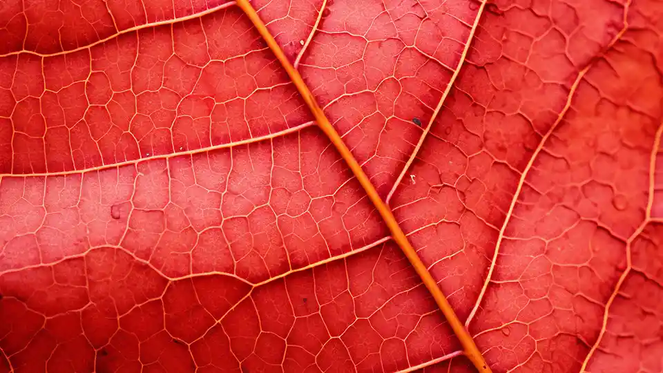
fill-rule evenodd
<path id="1" fill-rule="evenodd" d="M 63 175 L 73 175 L 77 173 L 86 173 L 90 171 L 103 171 L 106 169 L 117 169 L 122 166 L 128 166 L 131 164 L 137 164 L 140 162 L 146 162 L 149 160 L 163 160 L 163 159 L 169 159 L 173 157 L 179 157 L 180 155 L 196 155 L 200 153 L 205 153 L 207 151 L 215 151 L 218 149 L 227 149 L 227 148 L 233 148 L 235 146 L 240 146 L 240 145 L 247 145 L 247 144 L 253 144 L 254 142 L 261 142 L 269 139 L 273 139 L 275 137 L 281 137 L 285 135 L 289 135 L 291 133 L 295 133 L 298 131 L 301 131 L 304 128 L 308 128 L 314 125 L 314 122 L 305 122 L 302 124 L 298 124 L 297 126 L 286 128 L 283 131 L 278 131 L 275 133 L 269 133 L 267 135 L 262 135 L 262 136 L 256 136 L 256 137 L 251 137 L 249 139 L 245 140 L 239 140 L 235 142 L 227 142 L 225 144 L 218 144 L 218 145 L 212 145 L 212 146 L 205 146 L 204 148 L 198 148 L 198 149 L 192 149 L 189 151 L 176 151 L 175 153 L 170 153 L 170 154 L 160 154 L 160 155 L 151 155 L 149 157 L 141 157 L 135 160 L 128 160 L 124 162 L 117 162 L 113 164 L 103 164 L 102 166 L 95 166 L 95 167 L 88 167 L 86 169 L 79 169 L 79 170 L 71 170 L 71 171 L 59 171 L 59 172 L 41 172 L 41 173 L 0 173 L 0 179 L 1 178 L 8 178 L 8 177 L 15 177 L 15 178 L 26 178 L 26 177 L 35 177 L 35 176 L 63 176 Z"/>

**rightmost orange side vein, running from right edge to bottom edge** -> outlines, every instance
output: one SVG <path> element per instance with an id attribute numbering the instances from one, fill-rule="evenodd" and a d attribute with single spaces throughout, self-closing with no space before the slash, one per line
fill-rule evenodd
<path id="1" fill-rule="evenodd" d="M 619 276 L 619 280 L 617 280 L 617 284 L 615 285 L 615 290 L 613 291 L 613 294 L 610 295 L 610 298 L 608 298 L 608 301 L 606 302 L 606 309 L 603 314 L 603 323 L 601 325 L 601 331 L 599 332 L 599 336 L 596 338 L 596 342 L 592 346 L 591 350 L 589 350 L 587 357 L 585 358 L 585 361 L 582 362 L 582 367 L 580 367 L 580 372 L 585 372 L 587 369 L 587 365 L 593 356 L 594 352 L 599 348 L 599 345 L 601 344 L 601 341 L 603 340 L 603 336 L 606 334 L 606 330 L 608 329 L 608 318 L 610 316 L 610 309 L 613 305 L 613 302 L 617 298 L 617 295 L 619 295 L 619 291 L 622 289 L 622 285 L 624 285 L 624 281 L 626 281 L 626 277 L 628 277 L 628 274 L 631 272 L 631 269 L 633 268 L 632 265 L 633 263 L 631 262 L 631 245 L 633 244 L 633 240 L 640 236 L 642 231 L 644 231 L 644 228 L 647 226 L 647 224 L 651 220 L 651 209 L 654 204 L 654 182 L 655 182 L 655 172 L 656 172 L 656 157 L 658 155 L 658 150 L 660 149 L 661 146 L 661 136 L 663 135 L 663 124 L 660 124 L 658 127 L 658 131 L 656 131 L 656 137 L 654 138 L 654 144 L 653 148 L 651 149 L 651 155 L 649 157 L 649 190 L 648 190 L 648 199 L 647 199 L 647 207 L 644 211 L 644 220 L 640 224 L 640 227 L 637 227 L 635 232 L 631 235 L 631 237 L 626 240 L 626 268 L 624 268 L 624 272 L 622 272 L 622 276 Z"/>

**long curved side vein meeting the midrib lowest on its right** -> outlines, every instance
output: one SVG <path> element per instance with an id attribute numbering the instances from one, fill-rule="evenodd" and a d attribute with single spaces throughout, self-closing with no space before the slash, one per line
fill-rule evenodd
<path id="1" fill-rule="evenodd" d="M 624 35 L 624 32 L 626 32 L 626 29 L 628 28 L 628 22 L 626 21 L 626 16 L 628 15 L 628 6 L 630 5 L 631 5 L 631 0 L 628 0 L 626 4 L 624 4 L 624 27 L 622 28 L 622 30 L 619 30 L 619 32 L 617 32 L 617 35 L 615 35 L 615 37 L 611 40 L 610 44 L 606 46 L 605 50 L 612 48 L 612 46 L 617 42 L 617 40 L 621 39 L 622 35 Z M 523 174 L 518 180 L 518 186 L 516 187 L 516 191 L 513 194 L 513 198 L 509 206 L 509 211 L 507 211 L 506 213 L 506 217 L 504 218 L 502 227 L 499 230 L 499 236 L 497 236 L 497 243 L 495 243 L 495 252 L 492 256 L 492 261 L 490 262 L 488 275 L 486 276 L 486 280 L 483 281 L 483 287 L 481 288 L 481 292 L 479 293 L 479 297 L 477 298 L 477 303 L 474 303 L 472 312 L 470 312 L 470 316 L 468 316 L 467 321 L 465 321 L 465 327 L 469 326 L 474 316 L 476 316 L 477 311 L 479 310 L 479 306 L 481 305 L 481 300 L 483 300 L 483 296 L 486 295 L 488 284 L 490 283 L 490 279 L 492 278 L 492 272 L 494 271 L 495 264 L 497 263 L 497 256 L 499 256 L 499 248 L 501 246 L 502 240 L 504 239 L 504 232 L 506 231 L 506 227 L 509 224 L 511 217 L 513 216 L 513 210 L 515 209 L 516 202 L 518 202 L 518 198 L 520 197 L 520 193 L 523 189 L 523 184 L 525 184 L 525 179 L 527 178 L 530 169 L 532 169 L 532 166 L 534 166 L 534 161 L 539 156 L 539 153 L 541 153 L 541 151 L 544 149 L 544 145 L 546 144 L 546 142 L 548 142 L 548 138 L 551 135 L 553 135 L 553 132 L 555 131 L 559 123 L 561 123 L 561 120 L 564 119 L 566 112 L 571 107 L 571 102 L 573 102 L 573 97 L 575 96 L 575 91 L 577 90 L 580 81 L 582 81 L 582 78 L 590 70 L 590 68 L 592 68 L 592 66 L 593 64 L 589 63 L 587 64 L 587 66 L 585 66 L 585 68 L 579 71 L 578 76 L 575 78 L 575 82 L 573 82 L 573 85 L 568 90 L 568 97 L 566 97 L 566 104 L 564 105 L 564 108 L 561 109 L 559 115 L 557 115 L 557 119 L 555 119 L 555 123 L 553 123 L 553 125 L 550 126 L 550 129 L 548 129 L 546 135 L 544 135 L 544 137 L 541 138 L 541 141 L 539 142 L 537 149 L 535 149 L 534 153 L 532 153 L 532 157 L 530 157 L 527 166 L 525 166 L 525 169 L 523 170 Z"/>

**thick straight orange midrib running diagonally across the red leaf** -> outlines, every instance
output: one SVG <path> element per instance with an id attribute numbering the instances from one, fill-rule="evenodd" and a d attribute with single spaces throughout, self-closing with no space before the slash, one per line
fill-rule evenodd
<path id="1" fill-rule="evenodd" d="M 265 39 L 265 42 L 271 51 L 274 53 L 274 55 L 276 55 L 276 58 L 280 61 L 283 68 L 285 68 L 290 79 L 292 79 L 292 82 L 297 87 L 297 90 L 302 95 L 307 106 L 309 106 L 311 113 L 316 118 L 316 122 L 318 122 L 318 126 L 320 126 L 320 129 L 327 135 L 327 137 L 329 137 L 329 140 L 332 142 L 332 144 L 334 144 L 338 153 L 340 153 L 341 157 L 343 157 L 345 162 L 347 162 L 347 165 L 352 170 L 352 173 L 354 173 L 359 184 L 361 184 L 364 191 L 366 191 L 368 198 L 371 200 L 371 202 L 373 202 L 374 206 L 385 221 L 385 224 L 387 224 L 387 227 L 392 233 L 392 238 L 394 238 L 394 241 L 396 241 L 398 246 L 401 247 L 401 250 L 403 250 L 403 254 L 405 254 L 407 260 L 410 260 L 410 264 L 412 264 L 412 267 L 414 267 L 416 273 L 419 274 L 419 277 L 423 281 L 424 285 L 433 296 L 435 303 L 437 303 L 438 307 L 447 318 L 449 325 L 454 330 L 454 333 L 458 336 L 461 345 L 463 345 L 465 355 L 468 356 L 470 361 L 472 361 L 472 364 L 477 367 L 479 372 L 492 372 L 486 364 L 486 361 L 483 359 L 483 356 L 481 356 L 481 352 L 479 352 L 479 349 L 474 343 L 472 336 L 470 336 L 468 330 L 465 329 L 463 323 L 461 323 L 458 316 L 456 316 L 456 312 L 454 312 L 452 309 L 447 298 L 444 296 L 441 289 L 437 286 L 437 283 L 430 275 L 428 269 L 426 269 L 425 265 L 421 261 L 421 258 L 416 255 L 414 247 L 412 247 L 410 241 L 407 240 L 407 237 L 405 236 L 405 233 L 403 233 L 401 227 L 398 226 L 398 222 L 396 222 L 394 214 L 389 209 L 389 207 L 387 207 L 387 204 L 385 204 L 385 202 L 383 202 L 383 200 L 380 198 L 368 176 L 364 173 L 363 169 L 361 169 L 361 166 L 352 155 L 352 153 L 350 153 L 349 149 L 345 145 L 345 142 L 343 142 L 340 135 L 338 135 L 336 132 L 336 129 L 334 129 L 334 126 L 329 123 L 329 119 L 327 119 L 325 113 L 323 113 L 323 110 L 320 108 L 320 106 L 318 106 L 318 103 L 314 99 L 309 88 L 304 83 L 301 75 L 299 75 L 298 71 L 290 64 L 290 61 L 288 61 L 285 53 L 283 53 L 280 46 L 278 46 L 276 43 L 276 40 L 274 40 L 274 37 L 271 35 L 269 30 L 267 30 L 265 23 L 262 22 L 260 16 L 258 16 L 258 13 L 256 13 L 256 10 L 253 9 L 253 6 L 251 6 L 251 3 L 249 3 L 248 0 L 238 0 L 237 5 L 240 6 L 244 13 L 246 13 L 247 17 L 251 19 L 253 26 L 256 26 L 258 32 L 260 32 L 260 35 L 262 35 L 262 38 Z"/>

